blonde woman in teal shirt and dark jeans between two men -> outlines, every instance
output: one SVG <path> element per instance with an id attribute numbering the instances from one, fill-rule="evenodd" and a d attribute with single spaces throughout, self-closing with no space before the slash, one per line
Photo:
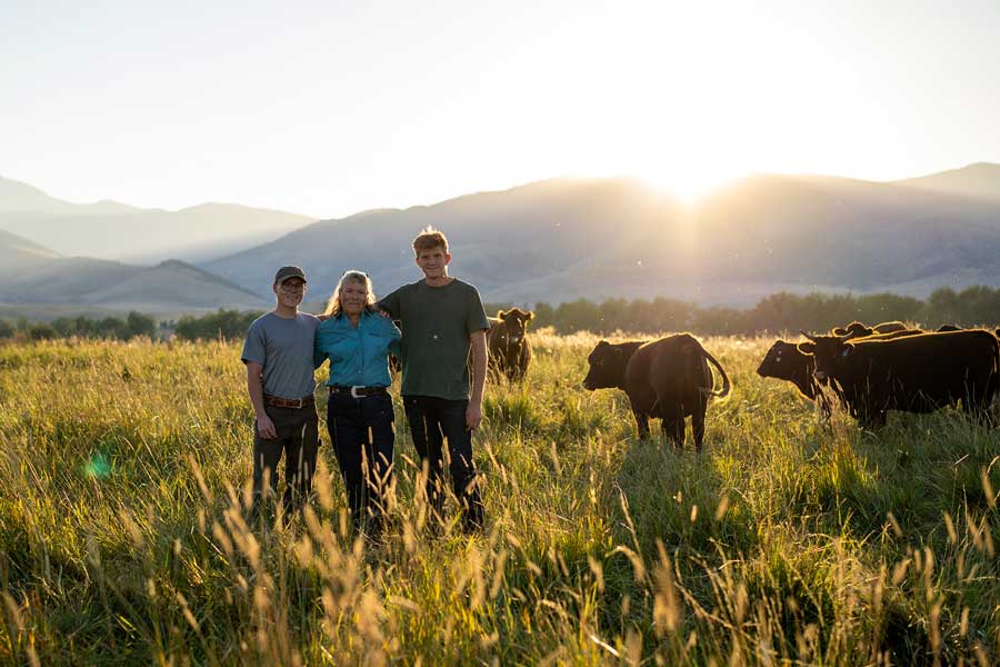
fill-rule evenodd
<path id="1" fill-rule="evenodd" d="M 359 529 L 374 537 L 382 528 L 386 491 L 392 481 L 396 434 L 387 388 L 389 352 L 399 354 L 399 329 L 378 315 L 371 280 L 347 271 L 327 305 L 330 316 L 316 331 L 313 362 L 330 360 L 327 429 Z"/>

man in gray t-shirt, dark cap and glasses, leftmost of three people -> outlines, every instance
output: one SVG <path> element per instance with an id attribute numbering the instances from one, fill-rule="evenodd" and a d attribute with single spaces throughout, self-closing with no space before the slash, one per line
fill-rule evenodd
<path id="1" fill-rule="evenodd" d="M 282 267 L 272 286 L 274 310 L 256 319 L 241 355 L 247 365 L 247 391 L 257 415 L 253 425 L 253 498 L 264 478 L 278 491 L 278 464 L 284 454 L 284 507 L 301 509 L 312 490 L 319 424 L 312 347 L 319 319 L 299 312 L 306 296 L 306 273 Z"/>

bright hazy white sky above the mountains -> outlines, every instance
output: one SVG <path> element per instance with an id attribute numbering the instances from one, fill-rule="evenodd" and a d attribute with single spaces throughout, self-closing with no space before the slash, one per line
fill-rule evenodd
<path id="1" fill-rule="evenodd" d="M 321 218 L 1000 162 L 1000 2 L 0 0 L 0 176 Z"/>

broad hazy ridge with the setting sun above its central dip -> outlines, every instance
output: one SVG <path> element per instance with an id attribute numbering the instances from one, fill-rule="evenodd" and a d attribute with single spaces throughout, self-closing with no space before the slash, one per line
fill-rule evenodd
<path id="1" fill-rule="evenodd" d="M 272 267 L 299 263 L 310 299 L 360 268 L 383 293 L 420 277 L 410 241 L 427 225 L 448 233 L 451 272 L 493 302 L 662 295 L 747 305 L 780 290 L 926 296 L 1000 283 L 1000 201 L 984 192 L 777 175 L 693 208 L 634 181 L 556 179 L 320 221 L 203 266 L 268 295 Z"/>

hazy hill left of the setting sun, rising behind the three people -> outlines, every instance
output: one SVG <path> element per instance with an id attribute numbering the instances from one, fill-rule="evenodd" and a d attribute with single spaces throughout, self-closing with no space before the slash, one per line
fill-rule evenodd
<path id="1" fill-rule="evenodd" d="M 384 292 L 420 276 L 410 242 L 433 225 L 452 240 L 451 272 L 492 295 L 513 282 L 544 281 L 627 253 L 679 210 L 638 181 L 557 179 L 317 222 L 203 266 L 263 295 L 270 291 L 271 267 L 297 262 L 309 276 L 310 298 L 329 293 L 346 269 L 360 268 Z"/>

